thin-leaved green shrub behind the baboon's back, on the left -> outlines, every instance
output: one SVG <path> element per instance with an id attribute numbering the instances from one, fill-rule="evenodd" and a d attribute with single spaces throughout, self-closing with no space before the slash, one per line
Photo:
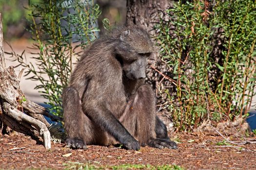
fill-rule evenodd
<path id="1" fill-rule="evenodd" d="M 62 89 L 79 52 L 97 37 L 99 6 L 93 0 L 39 0 L 29 3 L 27 10 L 32 18 L 29 31 L 35 41 L 33 49 L 39 52 L 29 64 L 22 55 L 13 56 L 28 68 L 28 79 L 39 81 L 35 88 L 48 99 L 50 111 L 62 116 Z"/>

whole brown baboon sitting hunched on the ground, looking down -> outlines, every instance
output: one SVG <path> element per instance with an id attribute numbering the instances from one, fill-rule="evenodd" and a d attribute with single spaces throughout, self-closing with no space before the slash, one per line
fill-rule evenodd
<path id="1" fill-rule="evenodd" d="M 144 83 L 154 52 L 149 34 L 137 26 L 113 29 L 84 51 L 62 95 L 67 145 L 177 149 L 156 116 L 154 91 Z"/>

